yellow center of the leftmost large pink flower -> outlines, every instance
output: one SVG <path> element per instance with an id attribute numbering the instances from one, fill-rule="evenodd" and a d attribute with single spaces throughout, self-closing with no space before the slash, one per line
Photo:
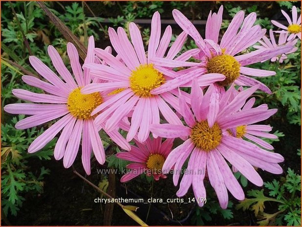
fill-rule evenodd
<path id="1" fill-rule="evenodd" d="M 102 97 L 99 92 L 84 95 L 80 87 L 74 89 L 67 99 L 67 107 L 72 116 L 84 120 L 90 118 L 91 112 L 101 103 Z"/>

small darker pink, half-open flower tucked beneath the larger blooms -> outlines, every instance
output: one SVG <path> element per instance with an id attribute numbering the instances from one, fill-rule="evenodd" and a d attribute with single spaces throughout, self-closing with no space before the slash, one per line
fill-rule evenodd
<path id="1" fill-rule="evenodd" d="M 153 176 L 156 181 L 167 178 L 161 169 L 171 152 L 173 140 L 166 139 L 162 143 L 161 137 L 153 140 L 149 137 L 144 144 L 136 141 L 137 146 L 131 145 L 130 151 L 117 153 L 116 157 L 135 162 L 127 165 L 127 168 L 131 170 L 121 178 L 121 182 L 127 182 L 142 173 Z"/>

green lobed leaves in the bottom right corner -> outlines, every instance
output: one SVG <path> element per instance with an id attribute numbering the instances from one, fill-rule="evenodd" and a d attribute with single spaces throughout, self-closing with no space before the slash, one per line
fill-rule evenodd
<path id="1" fill-rule="evenodd" d="M 264 186 L 270 197 L 264 195 L 264 189 L 250 190 L 247 196 L 251 198 L 241 201 L 236 208 L 253 210 L 261 226 L 301 226 L 301 176 L 288 168 L 285 178 L 266 182 Z M 278 211 L 273 214 L 265 213 L 264 203 L 268 201 L 276 202 Z"/>

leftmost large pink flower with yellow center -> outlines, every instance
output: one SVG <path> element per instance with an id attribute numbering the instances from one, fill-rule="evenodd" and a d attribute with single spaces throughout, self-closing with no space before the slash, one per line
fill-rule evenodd
<path id="1" fill-rule="evenodd" d="M 64 156 L 65 168 L 70 167 L 77 156 L 82 137 L 82 163 L 86 173 L 90 174 L 92 150 L 100 164 L 105 162 L 105 151 L 98 133 L 101 126 L 95 126 L 93 123 L 94 117 L 91 117 L 90 113 L 98 105 L 106 102 L 108 98 L 107 94 L 102 92 L 89 95 L 81 94 L 81 88 L 91 83 L 89 69 L 84 68 L 84 72 L 82 71 L 77 49 L 70 42 L 67 44 L 67 54 L 75 80 L 65 67 L 57 50 L 53 46 L 48 46 L 48 55 L 65 82 L 41 60 L 30 56 L 29 62 L 31 65 L 49 83 L 32 76 L 23 76 L 22 80 L 31 86 L 44 90 L 48 94 L 14 89 L 12 92 L 16 97 L 33 103 L 8 104 L 4 107 L 4 110 L 12 114 L 33 115 L 18 122 L 15 125 L 17 129 L 30 128 L 62 117 L 30 144 L 28 152 L 33 153 L 42 149 L 63 129 L 54 149 L 54 157 L 60 160 Z M 91 36 L 85 62 L 94 61 L 94 40 Z M 107 133 L 123 149 L 130 149 L 129 143 L 117 132 L 117 129 Z"/>

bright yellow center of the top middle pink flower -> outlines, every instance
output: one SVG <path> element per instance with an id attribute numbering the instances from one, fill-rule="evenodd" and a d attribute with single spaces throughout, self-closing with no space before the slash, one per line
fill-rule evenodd
<path id="1" fill-rule="evenodd" d="M 150 91 L 165 83 L 164 75 L 153 64 L 141 64 L 130 76 L 130 87 L 140 97 L 151 97 Z"/>

